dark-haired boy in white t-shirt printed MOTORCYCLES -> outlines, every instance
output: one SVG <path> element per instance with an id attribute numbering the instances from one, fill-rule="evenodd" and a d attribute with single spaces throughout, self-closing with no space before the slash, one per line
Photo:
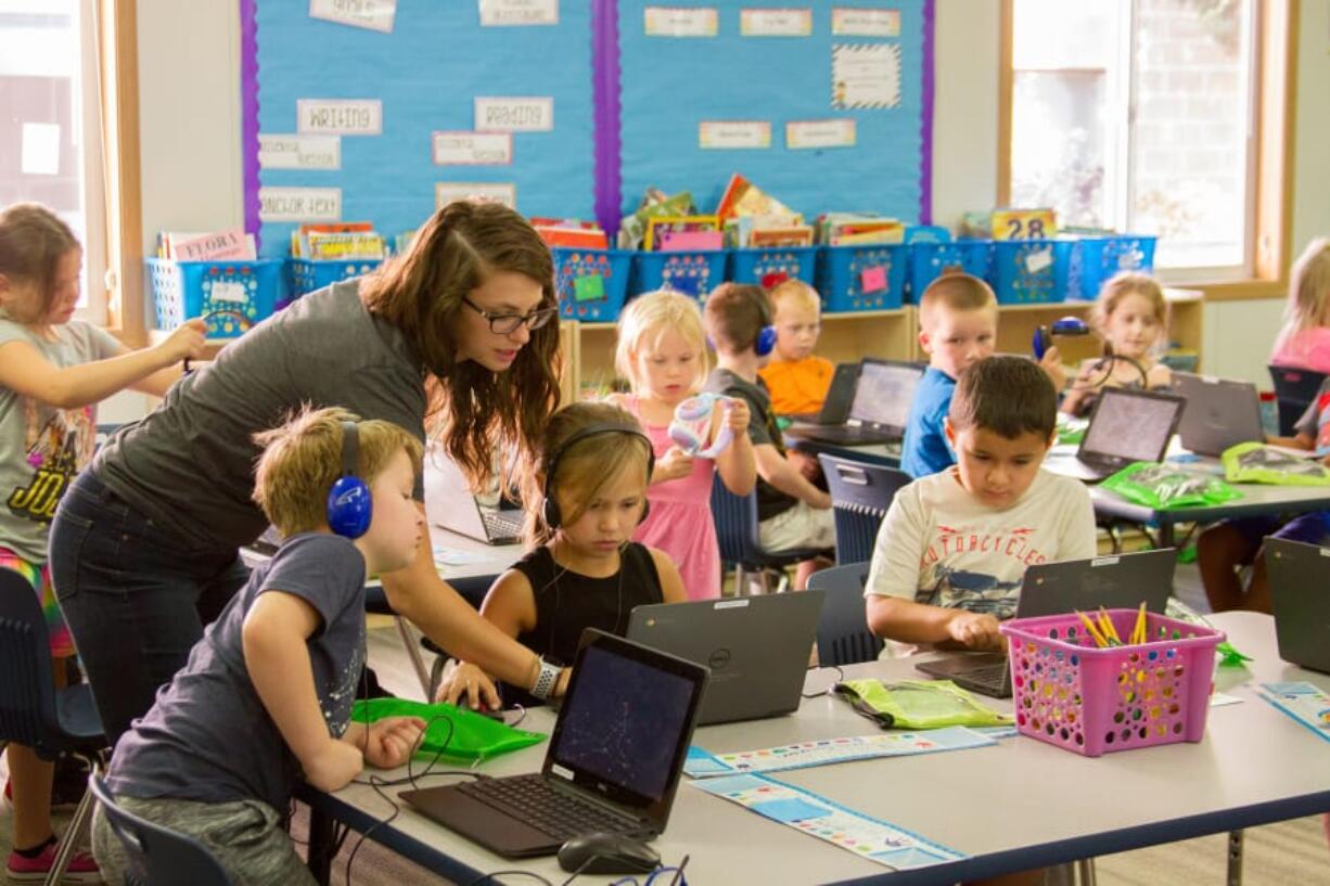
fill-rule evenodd
<path id="1" fill-rule="evenodd" d="M 896 492 L 864 589 L 868 625 L 899 644 L 1004 649 L 1025 568 L 1092 557 L 1095 511 L 1080 482 L 1041 471 L 1057 395 L 1021 357 L 962 372 L 946 419 L 956 464 Z"/>

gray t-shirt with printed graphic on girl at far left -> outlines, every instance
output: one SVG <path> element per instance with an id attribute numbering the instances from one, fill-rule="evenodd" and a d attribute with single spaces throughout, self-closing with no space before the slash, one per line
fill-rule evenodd
<path id="1" fill-rule="evenodd" d="M 27 342 L 55 366 L 77 366 L 114 357 L 120 342 L 105 331 L 69 321 L 48 342 L 25 326 L 0 319 L 0 346 Z M 97 407 L 61 410 L 0 387 L 0 548 L 31 563 L 47 561 L 47 532 L 56 504 L 89 459 L 97 442 Z"/>

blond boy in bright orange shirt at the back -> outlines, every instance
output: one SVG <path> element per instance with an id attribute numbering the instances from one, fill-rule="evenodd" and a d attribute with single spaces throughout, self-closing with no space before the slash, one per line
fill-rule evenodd
<path id="1" fill-rule="evenodd" d="M 802 279 L 787 279 L 769 294 L 775 326 L 775 355 L 758 370 L 777 415 L 817 412 L 827 398 L 831 361 L 817 357 L 822 298 Z"/>

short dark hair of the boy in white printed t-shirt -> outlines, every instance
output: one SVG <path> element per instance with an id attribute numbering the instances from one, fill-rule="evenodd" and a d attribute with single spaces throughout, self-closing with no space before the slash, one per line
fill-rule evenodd
<path id="1" fill-rule="evenodd" d="M 1032 361 L 990 357 L 960 374 L 947 418 L 956 431 L 982 427 L 1008 440 L 1021 434 L 1047 439 L 1057 426 L 1057 391 Z"/>

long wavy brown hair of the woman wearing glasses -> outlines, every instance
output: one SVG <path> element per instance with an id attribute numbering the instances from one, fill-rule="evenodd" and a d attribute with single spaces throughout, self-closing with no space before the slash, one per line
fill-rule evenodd
<path id="1" fill-rule="evenodd" d="M 549 247 L 527 220 L 500 204 L 455 202 L 360 285 L 370 313 L 396 326 L 420 359 L 434 430 L 473 488 L 492 479 L 496 448 L 516 454 L 512 470 L 529 466 L 559 404 L 557 315 L 532 330 L 505 372 L 458 359 L 459 314 L 469 310 L 462 299 L 501 271 L 536 281 L 544 290 L 540 307 L 557 307 Z"/>

